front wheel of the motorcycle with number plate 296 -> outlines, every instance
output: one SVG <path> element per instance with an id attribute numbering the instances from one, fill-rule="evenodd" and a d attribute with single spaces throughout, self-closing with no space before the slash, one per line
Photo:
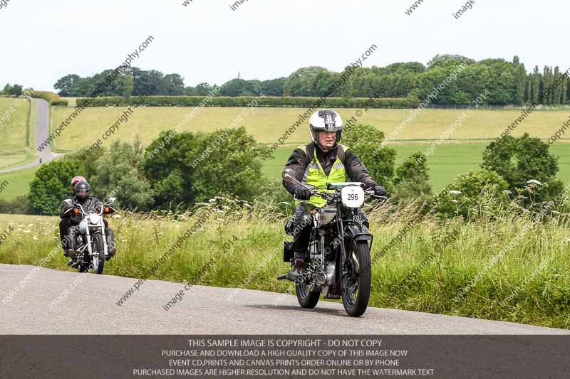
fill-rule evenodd
<path id="1" fill-rule="evenodd" d="M 360 317 L 368 307 L 372 282 L 372 270 L 361 269 L 370 266 L 368 242 L 354 242 L 352 248 L 347 249 L 347 254 L 350 259 L 345 267 L 346 275 L 342 279 L 343 305 L 349 316 Z"/>

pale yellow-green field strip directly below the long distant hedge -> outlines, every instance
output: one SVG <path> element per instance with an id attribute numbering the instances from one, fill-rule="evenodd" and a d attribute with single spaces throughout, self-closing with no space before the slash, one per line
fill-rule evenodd
<path id="1" fill-rule="evenodd" d="M 84 110 L 81 115 L 67 127 L 61 137 L 56 140 L 56 147 L 62 150 L 73 150 L 93 144 L 101 137 L 115 120 L 123 114 L 122 107 L 93 107 Z M 142 143 L 148 144 L 155 139 L 161 130 L 174 129 L 192 112 L 190 107 L 135 107 L 134 114 L 127 124 L 120 126 L 115 138 L 130 141 L 135 134 Z M 249 112 L 251 111 L 251 112 Z M 206 107 L 197 112 L 182 130 L 187 132 L 209 132 L 224 129 L 232 121 L 242 116 L 237 124 L 244 125 L 247 131 L 259 142 L 273 144 L 294 124 L 306 110 L 301 108 L 250 108 L 241 107 Z M 343 109 L 344 119 L 352 117 L 357 110 Z M 246 114 L 249 112 L 249 114 Z M 395 127 L 408 117 L 411 110 L 368 110 L 358 122 L 378 127 L 388 136 Z M 494 139 L 520 115 L 518 110 L 423 110 L 408 127 L 398 134 L 398 140 L 437 139 L 463 112 L 467 119 L 458 128 L 453 139 L 468 142 L 472 139 Z M 60 124 L 71 113 L 70 108 L 53 107 L 52 127 Z M 533 137 L 548 139 L 570 117 L 570 110 L 536 111 L 524 124 L 513 133 L 514 136 L 529 132 Z M 295 146 L 309 139 L 308 122 L 290 137 L 286 144 Z"/>

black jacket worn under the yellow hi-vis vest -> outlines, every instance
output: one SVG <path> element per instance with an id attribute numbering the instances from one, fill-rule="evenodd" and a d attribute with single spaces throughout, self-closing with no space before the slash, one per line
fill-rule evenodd
<path id="1" fill-rule="evenodd" d="M 326 176 L 331 174 L 331 169 L 333 167 L 334 162 L 336 161 L 336 156 L 338 155 L 338 149 L 342 149 L 341 146 L 338 146 L 337 149 L 331 149 L 328 151 L 322 151 L 318 145 L 311 142 L 312 146 L 316 150 L 316 157 L 318 162 L 323 167 Z M 310 150 L 310 149 L 309 149 Z M 378 183 L 374 181 L 374 179 L 368 174 L 368 170 L 366 166 L 362 163 L 360 159 L 354 154 L 352 149 L 348 149 L 345 151 L 345 159 L 344 159 L 344 167 L 346 169 L 346 174 L 351 179 L 351 181 L 360 181 L 361 183 L 365 184 L 365 187 L 371 188 L 373 186 L 378 186 Z M 292 169 L 294 171 L 294 176 L 298 181 L 303 181 L 303 176 L 305 174 L 307 162 L 311 161 L 309 157 L 306 156 L 305 151 L 297 148 L 293 151 L 293 154 L 289 156 L 289 160 L 285 164 L 285 169 Z M 289 173 L 291 174 L 291 173 Z M 295 188 L 299 186 L 299 184 L 295 183 L 291 180 L 283 180 L 283 186 L 286 188 L 291 195 L 294 194 Z"/>

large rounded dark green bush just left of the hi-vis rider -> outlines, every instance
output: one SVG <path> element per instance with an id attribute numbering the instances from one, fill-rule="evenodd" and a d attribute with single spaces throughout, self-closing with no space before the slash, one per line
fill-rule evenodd
<path id="1" fill-rule="evenodd" d="M 244 127 L 212 133 L 161 132 L 146 149 L 142 171 L 161 208 L 186 207 L 216 195 L 246 201 L 259 193 L 262 146 Z"/>

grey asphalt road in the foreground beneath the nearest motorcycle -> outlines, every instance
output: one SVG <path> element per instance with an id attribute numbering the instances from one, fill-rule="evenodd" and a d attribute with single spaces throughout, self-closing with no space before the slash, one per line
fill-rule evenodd
<path id="1" fill-rule="evenodd" d="M 30 279 L 19 285 L 28 274 Z M 368 308 L 363 317 L 354 319 L 342 304 L 320 301 L 316 309 L 306 310 L 291 295 L 202 286 L 190 288 L 166 311 L 162 306 L 184 284 L 159 280 L 144 282 L 118 306 L 116 302 L 135 282 L 111 275 L 0 265 L 0 334 L 570 334 L 395 309 Z M 5 301 L 16 287 L 14 297 Z"/>

